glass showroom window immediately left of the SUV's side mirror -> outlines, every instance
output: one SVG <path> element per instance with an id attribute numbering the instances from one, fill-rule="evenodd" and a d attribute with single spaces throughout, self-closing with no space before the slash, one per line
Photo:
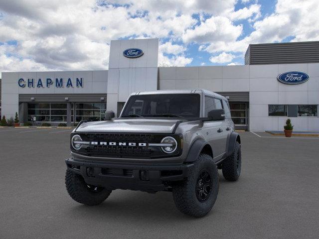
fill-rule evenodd
<path id="1" fill-rule="evenodd" d="M 79 122 L 81 120 L 103 120 L 105 110 L 106 103 L 75 103 L 75 121 Z"/>

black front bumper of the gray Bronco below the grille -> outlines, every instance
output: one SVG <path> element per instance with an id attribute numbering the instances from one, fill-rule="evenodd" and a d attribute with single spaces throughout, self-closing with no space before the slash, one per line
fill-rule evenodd
<path id="1" fill-rule="evenodd" d="M 171 182 L 187 178 L 193 167 L 172 163 L 122 163 L 68 158 L 69 170 L 82 175 L 87 184 L 110 190 L 131 189 L 147 192 L 165 191 Z"/>

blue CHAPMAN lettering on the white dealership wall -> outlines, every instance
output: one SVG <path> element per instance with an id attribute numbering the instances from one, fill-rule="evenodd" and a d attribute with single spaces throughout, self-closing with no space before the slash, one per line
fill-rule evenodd
<path id="1" fill-rule="evenodd" d="M 55 78 L 55 80 L 52 80 L 51 78 L 46 78 L 46 79 L 41 79 L 39 78 L 38 80 L 35 80 L 33 78 L 31 79 L 23 79 L 20 78 L 18 80 L 18 85 L 21 88 L 24 88 L 27 86 L 28 88 L 31 87 L 37 87 L 37 88 L 44 88 L 47 87 L 49 88 L 50 86 L 56 87 L 56 88 L 61 88 L 61 87 L 83 87 L 83 78 L 76 78 L 75 82 L 72 82 L 71 78 L 68 78 L 67 80 L 63 78 Z"/>

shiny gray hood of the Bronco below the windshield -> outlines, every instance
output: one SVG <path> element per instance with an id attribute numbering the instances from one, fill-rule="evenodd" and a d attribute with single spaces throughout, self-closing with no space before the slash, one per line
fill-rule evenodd
<path id="1" fill-rule="evenodd" d="M 171 133 L 177 119 L 115 119 L 82 123 L 76 132 Z"/>

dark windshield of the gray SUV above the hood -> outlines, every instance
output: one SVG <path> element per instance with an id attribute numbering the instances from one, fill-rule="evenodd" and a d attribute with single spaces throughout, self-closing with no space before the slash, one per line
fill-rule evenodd
<path id="1" fill-rule="evenodd" d="M 199 94 L 131 96 L 121 117 L 199 117 Z"/>

